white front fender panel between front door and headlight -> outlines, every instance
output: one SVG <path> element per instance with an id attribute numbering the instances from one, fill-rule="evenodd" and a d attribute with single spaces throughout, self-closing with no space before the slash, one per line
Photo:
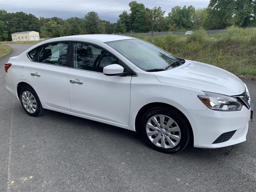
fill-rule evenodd
<path id="1" fill-rule="evenodd" d="M 135 120 L 138 112 L 143 106 L 150 103 L 164 103 L 173 106 L 180 110 L 190 121 L 189 110 L 207 110 L 207 107 L 198 99 L 200 94 L 204 93 L 188 87 L 159 82 L 154 76 L 148 76 L 147 80 L 145 80 L 145 77 L 134 77 L 131 81 L 129 129 L 135 130 Z"/>

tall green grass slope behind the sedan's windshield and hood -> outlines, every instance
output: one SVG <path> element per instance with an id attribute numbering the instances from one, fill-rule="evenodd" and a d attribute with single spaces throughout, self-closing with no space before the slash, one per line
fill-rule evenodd
<path id="1" fill-rule="evenodd" d="M 256 28 L 230 27 L 227 32 L 207 35 L 137 36 L 180 58 L 212 64 L 238 76 L 256 79 Z"/>

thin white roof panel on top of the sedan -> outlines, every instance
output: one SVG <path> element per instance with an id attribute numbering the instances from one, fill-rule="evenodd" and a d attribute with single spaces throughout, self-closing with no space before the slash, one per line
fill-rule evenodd
<path id="1" fill-rule="evenodd" d="M 53 38 L 52 40 L 86 40 L 86 39 L 93 39 L 100 42 L 110 42 L 110 41 L 118 41 L 118 40 L 126 40 L 126 39 L 135 39 L 134 37 L 123 36 L 123 35 L 109 35 L 109 34 L 91 34 L 91 35 L 72 35 L 72 36 L 65 36 L 59 38 Z"/>

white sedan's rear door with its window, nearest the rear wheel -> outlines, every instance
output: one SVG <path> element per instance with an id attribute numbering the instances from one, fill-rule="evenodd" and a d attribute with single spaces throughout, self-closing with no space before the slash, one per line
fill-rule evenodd
<path id="1" fill-rule="evenodd" d="M 28 75 L 38 95 L 48 106 L 67 111 L 70 111 L 67 56 L 69 44 L 54 42 L 28 53 L 31 60 Z M 33 58 L 34 54 L 37 58 Z"/>

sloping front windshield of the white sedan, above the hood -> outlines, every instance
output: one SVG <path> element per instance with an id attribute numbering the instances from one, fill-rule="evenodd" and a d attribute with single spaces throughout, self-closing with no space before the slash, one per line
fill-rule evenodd
<path id="1" fill-rule="evenodd" d="M 142 70 L 165 69 L 180 60 L 160 48 L 139 39 L 106 42 Z M 182 63 L 180 63 L 182 64 Z M 173 65 L 171 68 L 179 66 Z"/>

